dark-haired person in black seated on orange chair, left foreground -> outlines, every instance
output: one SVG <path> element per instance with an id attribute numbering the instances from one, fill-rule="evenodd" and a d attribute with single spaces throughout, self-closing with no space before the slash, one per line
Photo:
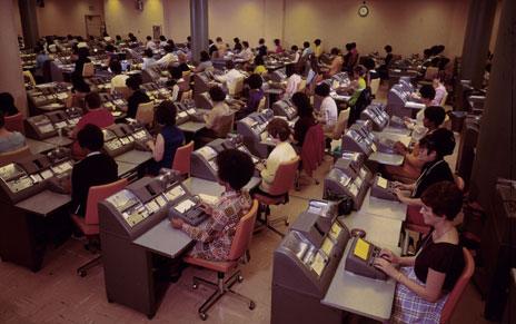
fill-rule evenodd
<path id="1" fill-rule="evenodd" d="M 77 135 L 86 158 L 73 165 L 71 171 L 72 212 L 85 216 L 88 192 L 92 186 L 106 185 L 118 179 L 118 165 L 112 157 L 103 154 L 102 130 L 92 124 L 86 125 Z"/>

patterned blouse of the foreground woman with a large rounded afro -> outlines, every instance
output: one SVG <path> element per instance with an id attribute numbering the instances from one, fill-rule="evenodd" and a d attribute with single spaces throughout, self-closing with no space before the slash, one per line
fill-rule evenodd
<path id="1" fill-rule="evenodd" d="M 198 226 L 183 223 L 182 230 L 197 240 L 190 256 L 228 261 L 238 222 L 249 212 L 251 204 L 252 199 L 247 193 L 228 190 L 222 194 L 207 222 Z"/>

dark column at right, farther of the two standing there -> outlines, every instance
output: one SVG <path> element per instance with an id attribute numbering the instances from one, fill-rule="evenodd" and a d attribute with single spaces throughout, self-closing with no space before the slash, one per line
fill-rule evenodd
<path id="1" fill-rule="evenodd" d="M 463 47 L 460 79 L 482 87 L 497 1 L 473 0 Z"/>

